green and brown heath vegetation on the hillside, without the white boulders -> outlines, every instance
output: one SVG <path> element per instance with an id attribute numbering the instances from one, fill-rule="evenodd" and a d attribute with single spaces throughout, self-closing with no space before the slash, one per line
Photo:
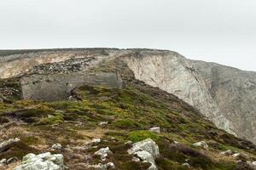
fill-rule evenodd
<path id="1" fill-rule="evenodd" d="M 0 160 L 52 151 L 63 154 L 70 169 L 84 169 L 84 162 L 99 162 L 93 156 L 96 150 L 108 146 L 113 151 L 108 161 L 113 161 L 117 169 L 147 169 L 148 163 L 131 161 L 127 153 L 131 146 L 125 142 L 148 138 L 160 147 L 156 160 L 160 170 L 189 169 L 183 167 L 184 162 L 191 165 L 190 169 L 248 169 L 245 162 L 220 156 L 223 150 L 246 153 L 250 161 L 256 159 L 255 145 L 219 130 L 172 94 L 135 80 L 120 61 L 104 63 L 91 71 L 119 71 L 125 87 L 82 86 L 73 90 L 76 100 L 43 102 L 16 97 L 1 102 L 0 141 L 17 137 L 20 142 L 0 153 Z M 108 124 L 102 126 L 100 122 Z M 160 127 L 161 133 L 149 132 L 150 127 Z M 86 142 L 96 138 L 102 139 L 97 148 L 86 147 Z M 208 150 L 193 146 L 202 140 L 209 145 Z M 55 143 L 60 143 L 63 150 L 51 150 Z"/>

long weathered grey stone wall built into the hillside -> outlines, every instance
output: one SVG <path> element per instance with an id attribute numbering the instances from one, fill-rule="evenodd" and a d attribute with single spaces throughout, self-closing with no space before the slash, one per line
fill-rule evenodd
<path id="1" fill-rule="evenodd" d="M 123 87 L 123 82 L 116 73 L 77 72 L 72 74 L 34 75 L 22 77 L 20 82 L 24 99 L 44 101 L 67 99 L 74 88 L 82 85 Z"/>

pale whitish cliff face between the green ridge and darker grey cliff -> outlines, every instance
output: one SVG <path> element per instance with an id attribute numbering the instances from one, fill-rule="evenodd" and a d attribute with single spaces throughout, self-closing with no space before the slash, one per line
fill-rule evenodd
<path id="1" fill-rule="evenodd" d="M 195 106 L 218 127 L 236 133 L 232 123 L 212 99 L 203 77 L 183 56 L 173 52 L 142 52 L 137 57 L 131 55 L 125 60 L 137 79 L 177 95 Z"/>

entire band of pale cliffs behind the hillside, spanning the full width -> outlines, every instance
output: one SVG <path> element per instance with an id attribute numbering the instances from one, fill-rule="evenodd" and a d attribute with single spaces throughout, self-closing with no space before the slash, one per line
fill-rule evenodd
<path id="1" fill-rule="evenodd" d="M 125 60 L 137 79 L 176 95 L 218 127 L 256 143 L 256 72 L 194 61 L 164 50 L 59 49 L 2 57 L 0 78 L 27 71 L 70 74 L 109 59 Z"/>

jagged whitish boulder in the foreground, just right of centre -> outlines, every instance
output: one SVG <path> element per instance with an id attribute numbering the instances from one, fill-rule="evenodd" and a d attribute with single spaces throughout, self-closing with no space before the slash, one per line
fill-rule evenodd
<path id="1" fill-rule="evenodd" d="M 160 156 L 159 147 L 152 139 L 145 139 L 141 142 L 133 144 L 131 149 L 128 150 L 128 153 L 134 155 L 137 151 L 142 150 L 148 151 L 148 153 L 150 153 L 154 158 Z"/>

